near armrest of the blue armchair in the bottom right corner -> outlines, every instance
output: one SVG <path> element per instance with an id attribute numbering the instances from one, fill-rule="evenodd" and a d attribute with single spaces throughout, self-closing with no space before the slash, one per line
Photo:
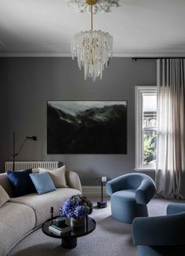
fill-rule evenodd
<path id="1" fill-rule="evenodd" d="M 185 213 L 135 218 L 132 239 L 135 245 L 167 246 L 185 243 Z"/>

